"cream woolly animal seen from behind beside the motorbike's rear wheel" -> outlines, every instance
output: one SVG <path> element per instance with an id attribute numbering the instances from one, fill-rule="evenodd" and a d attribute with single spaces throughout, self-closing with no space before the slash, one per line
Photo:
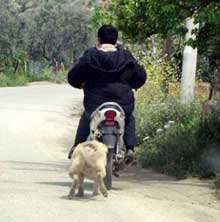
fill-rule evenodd
<path id="1" fill-rule="evenodd" d="M 85 177 L 94 180 L 93 195 L 98 195 L 100 189 L 104 197 L 108 196 L 103 180 L 106 176 L 107 152 L 107 146 L 98 141 L 84 142 L 75 147 L 69 169 L 69 176 L 73 179 L 69 199 L 75 196 L 77 188 L 77 196 L 84 195 L 83 181 Z"/>

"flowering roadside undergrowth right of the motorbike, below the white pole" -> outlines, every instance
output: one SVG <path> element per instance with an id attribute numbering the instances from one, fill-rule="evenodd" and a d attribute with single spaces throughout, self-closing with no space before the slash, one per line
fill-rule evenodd
<path id="1" fill-rule="evenodd" d="M 181 178 L 220 172 L 220 112 L 203 118 L 200 106 L 137 96 L 139 159 L 144 167 Z"/>

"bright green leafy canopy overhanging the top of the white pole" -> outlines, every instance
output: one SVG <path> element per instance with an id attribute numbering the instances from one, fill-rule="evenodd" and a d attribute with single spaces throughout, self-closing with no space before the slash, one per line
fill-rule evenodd
<path id="1" fill-rule="evenodd" d="M 164 43 L 168 40 L 169 44 L 163 45 L 164 52 L 168 51 L 168 58 L 176 58 L 178 64 L 182 59 L 182 51 L 174 50 L 169 55 L 169 47 L 176 39 L 183 41 L 187 31 L 185 21 L 188 17 L 194 17 L 200 28 L 193 30 L 197 36 L 196 40 L 190 39 L 187 44 L 198 47 L 200 68 L 198 75 L 206 71 L 212 77 L 212 85 L 219 85 L 219 81 L 215 81 L 216 75 L 218 79 L 220 76 L 220 2 L 218 0 L 112 0 L 103 2 L 94 12 L 95 25 L 113 23 L 122 31 L 124 39 L 135 43 L 145 43 L 149 41 L 149 37 L 156 34 L 157 38 L 164 39 Z M 213 64 L 217 65 L 213 67 Z M 218 71 L 216 71 L 216 66 Z"/>

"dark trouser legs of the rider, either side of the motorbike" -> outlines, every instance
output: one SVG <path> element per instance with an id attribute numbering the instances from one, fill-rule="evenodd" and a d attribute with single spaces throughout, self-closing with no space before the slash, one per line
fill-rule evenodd
<path id="1" fill-rule="evenodd" d="M 84 112 L 79 121 L 74 146 L 86 141 L 90 133 L 89 124 L 90 114 Z M 137 145 L 137 138 L 135 135 L 135 118 L 132 113 L 126 114 L 124 142 L 126 149 L 133 149 Z"/>

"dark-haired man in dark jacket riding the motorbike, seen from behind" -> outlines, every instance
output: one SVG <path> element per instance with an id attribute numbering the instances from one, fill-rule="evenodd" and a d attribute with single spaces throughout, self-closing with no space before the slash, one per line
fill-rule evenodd
<path id="1" fill-rule="evenodd" d="M 90 116 L 105 102 L 116 102 L 125 111 L 124 142 L 128 153 L 137 145 L 135 135 L 133 89 L 140 88 L 146 81 L 146 72 L 131 52 L 117 44 L 118 31 L 111 25 L 98 30 L 98 43 L 87 49 L 68 73 L 71 86 L 84 91 L 84 113 L 79 121 L 74 147 L 87 140 Z"/>

